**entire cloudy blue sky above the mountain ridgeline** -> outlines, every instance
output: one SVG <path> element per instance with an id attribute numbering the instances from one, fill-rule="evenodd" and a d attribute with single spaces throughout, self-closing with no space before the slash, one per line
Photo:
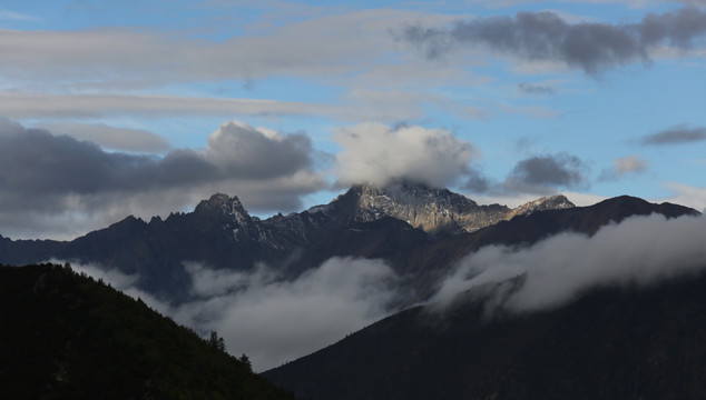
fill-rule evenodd
<path id="1" fill-rule="evenodd" d="M 399 179 L 706 208 L 706 2 L 0 4 L 0 234 Z"/>

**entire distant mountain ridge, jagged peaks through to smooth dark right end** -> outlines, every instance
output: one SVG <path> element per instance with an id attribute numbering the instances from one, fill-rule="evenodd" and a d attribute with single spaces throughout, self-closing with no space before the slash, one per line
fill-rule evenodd
<path id="1" fill-rule="evenodd" d="M 186 261 L 245 272 L 265 263 L 292 280 L 332 257 L 374 258 L 403 278 L 414 303 L 433 292 L 458 259 L 482 246 L 532 243 L 563 231 L 592 234 L 611 221 L 654 212 L 697 213 L 627 196 L 591 207 L 555 196 L 510 209 L 479 206 L 447 189 L 399 183 L 355 186 L 329 204 L 261 220 L 236 197 L 214 194 L 193 212 L 149 221 L 130 216 L 71 241 L 0 236 L 0 262 L 61 260 L 115 269 L 135 276 L 136 286 L 151 296 L 179 303 L 192 288 Z"/>

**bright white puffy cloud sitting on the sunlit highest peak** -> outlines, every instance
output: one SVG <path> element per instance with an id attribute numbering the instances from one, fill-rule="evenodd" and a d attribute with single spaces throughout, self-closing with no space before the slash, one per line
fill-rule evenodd
<path id="1" fill-rule="evenodd" d="M 443 129 L 363 123 L 339 128 L 333 138 L 343 148 L 335 161 L 345 184 L 412 180 L 445 187 L 473 178 L 475 147 Z"/>

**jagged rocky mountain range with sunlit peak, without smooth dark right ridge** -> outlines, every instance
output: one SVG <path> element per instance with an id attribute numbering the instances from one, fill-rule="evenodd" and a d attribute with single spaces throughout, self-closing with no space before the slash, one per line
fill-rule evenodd
<path id="1" fill-rule="evenodd" d="M 95 263 L 138 274 L 143 290 L 180 301 L 190 287 L 185 261 L 238 271 L 265 262 L 283 278 L 293 279 L 334 256 L 392 259 L 518 214 L 570 207 L 573 204 L 563 197 L 541 199 L 516 210 L 478 206 L 447 189 L 404 183 L 355 186 L 329 204 L 261 220 L 249 216 L 237 197 L 217 193 L 199 202 L 193 212 L 149 222 L 130 216 L 72 241 L 0 237 L 0 262 L 57 259 Z"/>

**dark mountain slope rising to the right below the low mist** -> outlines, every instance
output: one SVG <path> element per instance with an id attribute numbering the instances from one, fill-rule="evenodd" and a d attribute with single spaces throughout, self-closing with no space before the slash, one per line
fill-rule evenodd
<path id="1" fill-rule="evenodd" d="M 264 376 L 326 399 L 704 399 L 706 276 L 494 319 L 414 308 Z"/>

